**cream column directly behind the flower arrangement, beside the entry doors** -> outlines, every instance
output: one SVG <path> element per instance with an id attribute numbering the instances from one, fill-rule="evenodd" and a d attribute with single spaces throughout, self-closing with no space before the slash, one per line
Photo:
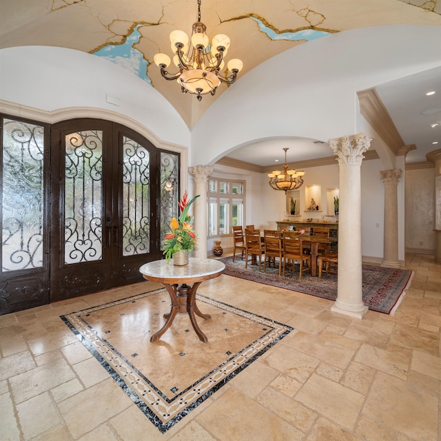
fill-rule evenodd
<path id="1" fill-rule="evenodd" d="M 200 194 L 194 201 L 194 231 L 198 236 L 198 245 L 194 249 L 195 257 L 206 259 L 207 253 L 207 180 L 213 173 L 209 165 L 189 167 L 188 171 L 194 176 L 196 183 L 194 194 Z"/>

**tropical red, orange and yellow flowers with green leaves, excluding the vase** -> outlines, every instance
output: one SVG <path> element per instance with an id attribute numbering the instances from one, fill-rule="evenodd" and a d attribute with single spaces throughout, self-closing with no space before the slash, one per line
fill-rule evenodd
<path id="1" fill-rule="evenodd" d="M 193 216 L 188 214 L 188 209 L 199 196 L 201 195 L 198 194 L 191 201 L 187 201 L 188 194 L 185 191 L 179 202 L 181 214 L 177 219 L 172 218 L 170 221 L 170 233 L 167 233 L 164 237 L 163 254 L 167 259 L 167 263 L 170 262 L 174 253 L 183 251 L 183 249 L 187 249 L 190 252 L 197 243 L 196 234 L 192 231 Z"/>

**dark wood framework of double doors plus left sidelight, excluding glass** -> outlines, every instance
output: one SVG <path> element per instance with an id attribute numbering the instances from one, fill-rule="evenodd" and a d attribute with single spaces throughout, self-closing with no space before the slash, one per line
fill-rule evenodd
<path id="1" fill-rule="evenodd" d="M 162 257 L 160 250 L 160 155 L 165 152 L 156 149 L 150 141 L 128 127 L 101 119 L 73 119 L 54 125 L 44 124 L 0 114 L 0 128 L 3 119 L 18 121 L 43 128 L 43 234 L 41 247 L 43 263 L 38 267 L 5 270 L 0 272 L 0 315 L 48 304 L 56 300 L 74 298 L 83 294 L 127 285 L 143 280 L 139 267 Z M 70 263 L 65 265 L 63 240 L 64 222 L 64 145 L 63 136 L 81 130 L 103 130 L 103 211 L 102 211 L 102 258 L 97 261 Z M 150 154 L 150 243 L 149 252 L 123 256 L 121 251 L 123 136 L 134 140 Z M 0 140 L 3 146 L 3 139 Z M 0 161 L 3 164 L 3 149 Z M 0 170 L 3 176 L 3 169 Z M 0 196 L 3 194 L 0 179 Z M 0 221 L 2 206 L 0 205 Z M 3 225 L 2 225 L 3 227 Z M 3 244 L 2 244 L 3 245 Z M 127 254 L 127 253 L 126 253 Z M 0 250 L 0 259 L 1 259 Z M 40 259 L 41 260 L 41 259 Z"/>

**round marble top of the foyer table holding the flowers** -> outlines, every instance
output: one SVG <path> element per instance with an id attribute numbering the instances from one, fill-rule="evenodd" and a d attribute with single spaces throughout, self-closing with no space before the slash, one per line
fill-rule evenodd
<path id="1" fill-rule="evenodd" d="M 190 257 L 188 265 L 176 266 L 172 260 L 154 260 L 145 263 L 139 271 L 145 276 L 157 278 L 195 278 L 217 274 L 225 269 L 219 260 Z"/>

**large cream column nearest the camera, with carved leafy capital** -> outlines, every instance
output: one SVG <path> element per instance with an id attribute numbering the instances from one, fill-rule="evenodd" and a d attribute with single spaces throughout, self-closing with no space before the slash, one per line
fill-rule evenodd
<path id="1" fill-rule="evenodd" d="M 331 139 L 329 145 L 338 156 L 340 171 L 337 300 L 331 311 L 363 318 L 368 307 L 362 295 L 360 169 L 371 139 L 361 133 Z"/>

